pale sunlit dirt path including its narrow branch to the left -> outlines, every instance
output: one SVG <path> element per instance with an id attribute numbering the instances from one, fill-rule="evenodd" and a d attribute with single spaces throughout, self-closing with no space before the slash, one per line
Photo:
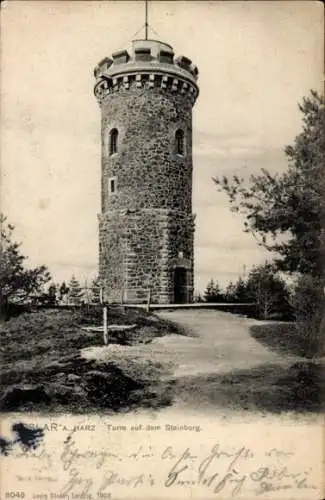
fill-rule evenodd
<path id="1" fill-rule="evenodd" d="M 92 347 L 86 356 L 150 360 L 168 366 L 169 376 L 176 378 L 250 369 L 282 361 L 280 355 L 251 337 L 249 328 L 256 323 L 254 320 L 212 310 L 166 311 L 159 316 L 181 324 L 190 336 L 166 335 L 145 345 Z"/>

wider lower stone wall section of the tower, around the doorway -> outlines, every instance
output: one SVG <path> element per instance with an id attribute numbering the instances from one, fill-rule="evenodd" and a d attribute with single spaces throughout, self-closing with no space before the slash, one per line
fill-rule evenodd
<path id="1" fill-rule="evenodd" d="M 174 267 L 182 252 L 188 266 L 188 300 L 193 297 L 193 221 L 181 212 L 142 209 L 100 216 L 100 270 L 104 297 L 143 303 L 174 299 Z"/>

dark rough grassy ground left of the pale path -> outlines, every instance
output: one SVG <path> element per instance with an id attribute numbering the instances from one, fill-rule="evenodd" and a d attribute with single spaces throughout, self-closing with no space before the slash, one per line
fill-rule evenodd
<path id="1" fill-rule="evenodd" d="M 80 357 L 80 349 L 103 344 L 101 333 L 82 329 L 100 321 L 101 312 L 96 310 L 91 314 L 43 310 L 1 323 L 0 409 L 119 411 L 146 400 L 149 386 L 159 379 L 159 363 L 133 364 L 124 370 L 113 361 L 99 363 Z M 149 343 L 158 336 L 184 334 L 172 322 L 142 310 L 109 309 L 108 323 L 136 325 L 111 334 L 111 343 Z"/>

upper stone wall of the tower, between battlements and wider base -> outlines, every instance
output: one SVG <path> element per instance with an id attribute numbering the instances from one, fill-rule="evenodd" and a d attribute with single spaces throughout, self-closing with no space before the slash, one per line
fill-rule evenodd
<path id="1" fill-rule="evenodd" d="M 109 155 L 109 133 L 119 132 L 118 153 Z M 184 131 L 185 154 L 175 133 Z M 102 103 L 102 208 L 192 209 L 192 104 L 161 88 L 120 89 Z M 117 177 L 117 192 L 108 179 Z"/>

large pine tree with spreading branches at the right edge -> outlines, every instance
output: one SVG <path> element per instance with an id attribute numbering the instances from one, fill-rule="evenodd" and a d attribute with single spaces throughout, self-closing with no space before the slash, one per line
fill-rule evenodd
<path id="1" fill-rule="evenodd" d="M 302 131 L 285 148 L 286 172 L 261 169 L 248 184 L 236 175 L 214 182 L 244 215 L 244 231 L 275 252 L 278 269 L 325 278 L 324 98 L 312 91 L 299 109 Z"/>

